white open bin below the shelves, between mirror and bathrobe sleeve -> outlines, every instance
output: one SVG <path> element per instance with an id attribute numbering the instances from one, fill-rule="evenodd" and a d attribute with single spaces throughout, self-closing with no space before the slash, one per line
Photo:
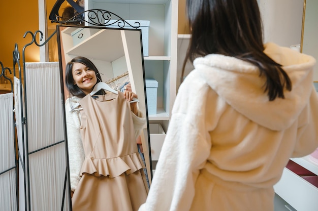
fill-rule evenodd
<path id="1" fill-rule="evenodd" d="M 166 133 L 161 124 L 149 124 L 151 160 L 158 160 Z"/>

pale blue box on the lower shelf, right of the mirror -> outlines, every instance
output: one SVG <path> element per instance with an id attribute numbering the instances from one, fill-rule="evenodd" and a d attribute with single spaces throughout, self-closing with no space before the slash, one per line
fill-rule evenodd
<path id="1" fill-rule="evenodd" d="M 146 78 L 146 97 L 148 114 L 157 113 L 157 89 L 158 81 L 153 78 Z"/>

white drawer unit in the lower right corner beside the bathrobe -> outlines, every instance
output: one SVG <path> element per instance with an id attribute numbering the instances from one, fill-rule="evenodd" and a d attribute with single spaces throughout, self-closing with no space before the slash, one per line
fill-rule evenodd
<path id="1" fill-rule="evenodd" d="M 309 156 L 291 160 L 318 175 L 318 164 L 311 161 Z M 297 211 L 317 210 L 318 188 L 288 168 L 284 168 L 283 175 L 274 189 L 283 200 Z"/>

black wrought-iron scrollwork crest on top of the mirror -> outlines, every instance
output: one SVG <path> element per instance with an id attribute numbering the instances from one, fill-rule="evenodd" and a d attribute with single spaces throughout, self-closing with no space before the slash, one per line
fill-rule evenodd
<path id="1" fill-rule="evenodd" d="M 86 20 L 85 15 L 87 17 Z M 82 25 L 84 22 L 94 26 L 116 26 L 119 28 L 124 28 L 125 26 L 130 26 L 132 28 L 140 27 L 140 23 L 138 21 L 134 23 L 135 25 L 132 25 L 115 13 L 101 9 L 86 10 L 82 13 L 78 13 L 69 20 L 63 20 L 62 17 L 57 16 L 55 21 L 52 21 L 52 23 L 75 25 Z"/>

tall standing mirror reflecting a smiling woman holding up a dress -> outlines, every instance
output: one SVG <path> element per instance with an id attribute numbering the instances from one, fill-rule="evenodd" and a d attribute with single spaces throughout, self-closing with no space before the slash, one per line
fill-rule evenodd
<path id="1" fill-rule="evenodd" d="M 137 204 L 134 204 L 136 207 L 133 207 L 132 210 L 138 209 L 140 205 L 138 203 L 144 202 L 140 201 L 141 199 L 138 197 L 142 197 L 143 190 L 149 188 L 152 174 L 141 30 L 58 25 L 57 41 L 63 105 L 66 108 L 66 143 L 70 161 L 70 186 L 71 190 L 74 191 L 74 194 L 73 192 L 73 195 L 71 194 L 72 206 L 73 208 L 81 206 L 84 210 L 92 210 L 91 206 L 95 204 L 108 203 L 107 207 L 109 207 L 109 200 L 112 200 L 112 203 L 118 201 L 120 204 L 125 204 L 126 197 L 128 197 L 127 200 L 132 200 L 132 204 L 134 204 L 134 200 L 137 201 Z M 99 90 L 104 90 L 106 94 L 103 93 L 103 95 L 96 96 L 96 94 L 90 93 L 91 95 L 87 94 L 77 101 L 75 100 L 76 97 L 74 98 L 70 94 L 65 84 L 66 68 L 67 64 L 78 56 L 87 58 L 96 66 L 103 82 L 102 89 L 99 88 Z M 74 78 L 73 81 L 75 84 Z M 105 85 L 108 85 L 117 94 L 109 92 L 104 87 Z M 131 91 L 138 95 L 139 102 L 137 107 L 144 115 L 142 117 L 144 122 L 142 126 L 139 125 L 140 130 L 137 130 L 138 127 L 134 122 L 134 129 L 137 130 L 138 134 L 136 137 L 135 131 L 132 132 L 130 130 L 132 129 L 131 126 L 126 125 L 126 120 L 118 117 L 126 114 L 123 109 L 124 105 L 131 104 L 126 99 L 124 99 L 125 104 L 112 104 L 117 98 L 122 99 L 123 88 L 129 87 L 129 85 Z M 102 99 L 101 96 L 106 100 Z M 68 101 L 70 99 L 74 101 Z M 96 110 L 99 113 L 95 112 Z M 75 112 L 76 116 L 79 116 L 77 118 L 80 119 L 82 124 L 80 130 L 77 128 L 74 132 L 75 123 L 72 124 L 71 119 L 73 117 L 70 117 L 74 115 L 70 115 L 68 112 Z M 130 110 L 129 114 L 129 116 L 135 115 Z M 117 124 L 120 125 L 116 127 Z M 132 133 L 134 140 L 130 140 L 130 143 L 118 141 L 122 139 L 122 136 L 126 140 L 127 134 L 132 138 Z M 79 137 L 82 139 L 80 147 L 73 144 L 73 140 Z M 129 154 L 123 152 L 127 151 L 127 149 L 123 150 L 123 148 L 134 148 L 134 150 L 132 151 L 133 153 Z M 135 149 L 138 149 L 137 153 Z M 119 153 L 118 151 L 121 152 Z M 81 154 L 81 156 L 74 158 L 77 154 Z M 136 156 L 132 156 L 132 154 Z M 139 160 L 137 157 L 139 157 Z M 138 162 L 142 163 L 145 168 L 139 169 Z M 143 184 L 140 183 L 139 176 L 142 176 Z M 117 180 L 117 178 L 119 179 Z M 105 181 L 108 182 L 106 183 Z M 123 188 L 119 188 L 123 181 L 125 186 L 127 186 L 126 188 L 129 189 L 128 192 L 121 192 Z M 90 192 L 92 189 L 94 191 Z M 92 199 L 90 200 L 91 203 L 86 203 L 87 201 L 85 201 L 85 203 L 81 204 L 81 197 L 87 197 L 86 194 L 83 194 L 84 190 L 85 193 L 89 192 L 89 199 Z M 120 195 L 120 198 L 118 198 L 118 195 Z M 99 196 L 104 199 L 103 203 L 98 201 Z M 142 200 L 145 200 L 145 198 Z M 112 210 L 111 207 L 109 209 Z M 116 210 L 131 210 L 131 208 L 117 207 Z"/>

